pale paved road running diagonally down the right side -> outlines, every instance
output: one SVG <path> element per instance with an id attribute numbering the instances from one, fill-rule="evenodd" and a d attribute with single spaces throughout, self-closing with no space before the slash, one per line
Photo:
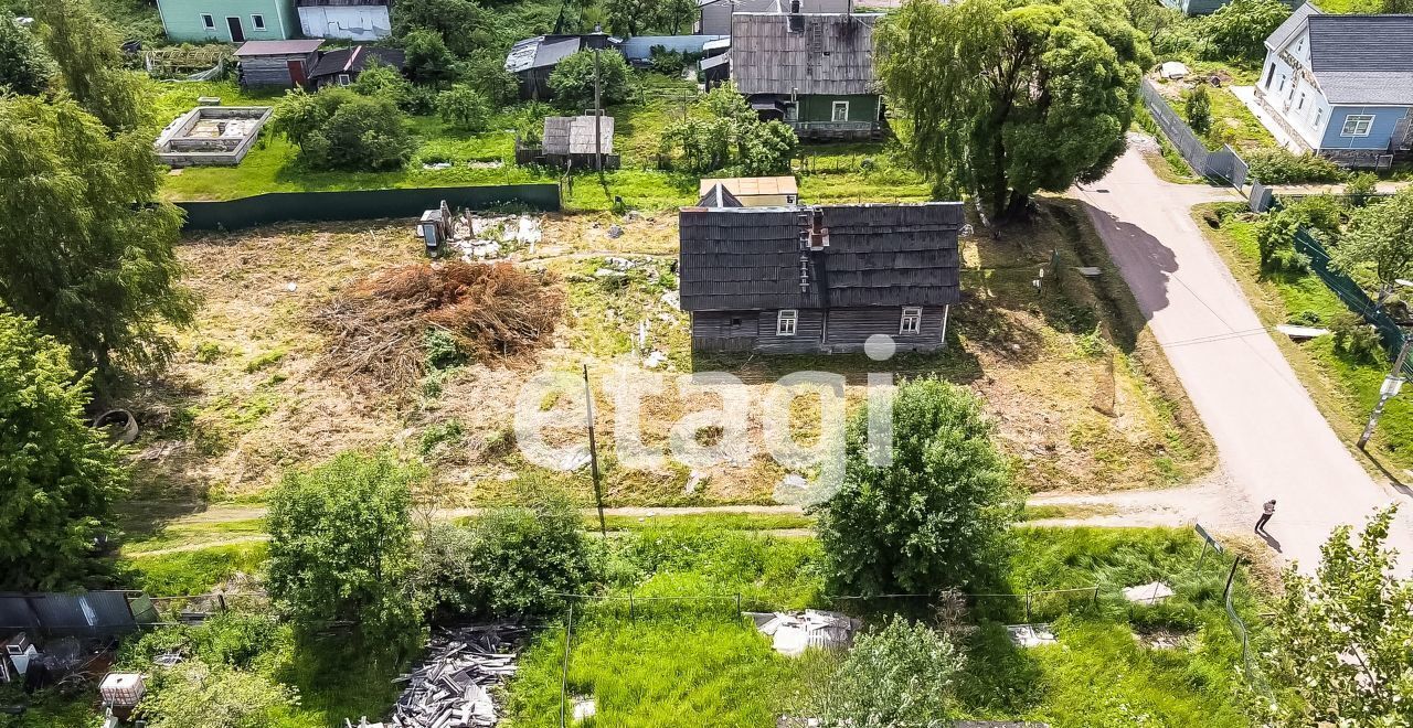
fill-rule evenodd
<path id="1" fill-rule="evenodd" d="M 1130 150 L 1106 178 L 1072 195 L 1217 442 L 1228 497 L 1194 502 L 1193 518 L 1231 528 L 1245 516 L 1253 526 L 1260 504 L 1276 498 L 1267 542 L 1313 571 L 1332 528 L 1410 499 L 1375 483 L 1335 437 L 1191 219 L 1193 205 L 1238 200 L 1235 193 L 1163 182 Z M 1413 553 L 1410 512 L 1405 502 L 1389 539 L 1405 554 Z"/>

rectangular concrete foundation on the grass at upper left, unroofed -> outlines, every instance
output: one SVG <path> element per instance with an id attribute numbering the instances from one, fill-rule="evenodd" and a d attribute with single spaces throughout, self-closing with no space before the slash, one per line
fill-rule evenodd
<path id="1" fill-rule="evenodd" d="M 268 106 L 198 106 L 157 137 L 157 158 L 168 166 L 235 166 L 270 116 Z"/>

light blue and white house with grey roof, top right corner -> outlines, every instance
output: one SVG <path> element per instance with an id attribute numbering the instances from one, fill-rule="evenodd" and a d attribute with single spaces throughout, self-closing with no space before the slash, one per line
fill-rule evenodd
<path id="1" fill-rule="evenodd" d="M 1348 166 L 1413 148 L 1413 16 L 1296 10 L 1266 38 L 1256 100 L 1301 151 Z"/>

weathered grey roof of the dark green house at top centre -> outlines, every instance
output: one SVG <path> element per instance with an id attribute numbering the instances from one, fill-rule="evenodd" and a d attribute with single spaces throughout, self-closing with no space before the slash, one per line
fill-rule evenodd
<path id="1" fill-rule="evenodd" d="M 877 93 L 873 25 L 879 17 L 736 13 L 731 78 L 746 96 Z"/>

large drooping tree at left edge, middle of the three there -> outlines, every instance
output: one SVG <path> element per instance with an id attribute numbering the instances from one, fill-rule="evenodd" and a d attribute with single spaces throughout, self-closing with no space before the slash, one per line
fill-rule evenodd
<path id="1" fill-rule="evenodd" d="M 151 138 L 112 135 L 75 102 L 0 97 L 0 302 L 112 382 L 119 361 L 161 363 L 192 295 L 172 250 L 181 210 L 161 202 Z"/>

